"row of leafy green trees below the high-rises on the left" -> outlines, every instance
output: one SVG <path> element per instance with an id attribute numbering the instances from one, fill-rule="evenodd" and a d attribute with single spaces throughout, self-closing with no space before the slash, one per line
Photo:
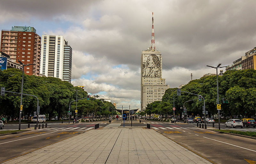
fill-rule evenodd
<path id="1" fill-rule="evenodd" d="M 22 71 L 15 68 L 0 71 L 0 87 L 6 91 L 21 93 Z M 40 114 L 45 114 L 49 120 L 54 117 L 68 118 L 69 103 L 77 99 L 87 97 L 84 89 L 73 86 L 59 78 L 38 77 L 24 74 L 23 93 L 35 95 L 39 99 Z M 88 101 L 87 98 L 77 101 L 78 117 L 100 117 L 112 114 L 115 109 L 111 102 L 97 99 L 95 95 Z M 22 116 L 33 116 L 37 108 L 37 99 L 33 96 L 23 95 Z M 76 101 L 71 103 L 70 112 L 75 116 Z M 0 116 L 7 116 L 13 120 L 19 118 L 20 96 L 5 92 L 0 96 Z M 113 111 L 114 112 L 114 111 Z M 116 114 L 116 113 L 113 113 Z"/>

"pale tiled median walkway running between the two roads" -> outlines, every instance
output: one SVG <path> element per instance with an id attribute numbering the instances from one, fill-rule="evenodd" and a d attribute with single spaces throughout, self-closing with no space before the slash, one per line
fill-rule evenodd
<path id="1" fill-rule="evenodd" d="M 89 130 L 5 163 L 210 164 L 156 131 L 142 128 Z"/>

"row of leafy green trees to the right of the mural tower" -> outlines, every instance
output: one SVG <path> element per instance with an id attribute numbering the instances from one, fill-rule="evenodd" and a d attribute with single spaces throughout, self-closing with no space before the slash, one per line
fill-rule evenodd
<path id="1" fill-rule="evenodd" d="M 220 114 L 224 118 L 253 117 L 256 114 L 256 70 L 226 71 L 223 76 L 218 76 Z M 173 115 L 173 90 L 175 115 L 182 116 L 184 102 L 189 116 L 203 116 L 204 101 L 198 101 L 196 95 L 183 93 L 177 96 L 177 88 L 169 88 L 165 91 L 162 101 L 155 101 L 147 105 L 145 113 L 158 114 L 163 117 Z M 207 117 L 217 114 L 217 82 L 216 76 L 207 76 L 191 80 L 181 91 L 202 95 L 205 99 Z M 228 100 L 223 103 L 222 99 Z M 182 107 L 182 109 L 181 109 Z"/>

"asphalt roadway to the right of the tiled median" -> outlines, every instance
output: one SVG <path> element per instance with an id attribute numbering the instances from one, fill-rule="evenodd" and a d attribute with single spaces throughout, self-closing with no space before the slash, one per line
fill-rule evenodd
<path id="1" fill-rule="evenodd" d="M 214 163 L 248 164 L 249 162 L 246 160 L 256 161 L 255 139 L 196 128 L 194 127 L 196 124 L 173 124 L 149 120 L 142 122 L 150 123 L 152 129 Z M 230 129 L 240 130 L 244 128 Z"/>

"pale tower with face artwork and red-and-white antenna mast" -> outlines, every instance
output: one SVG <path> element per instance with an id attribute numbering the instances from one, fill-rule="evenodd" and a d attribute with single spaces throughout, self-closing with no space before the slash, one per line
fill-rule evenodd
<path id="1" fill-rule="evenodd" d="M 165 90 L 169 85 L 165 85 L 162 78 L 162 56 L 160 51 L 156 51 L 154 19 L 152 13 L 152 39 L 151 47 L 141 53 L 141 108 L 145 110 L 147 105 L 154 101 L 161 101 Z"/>

